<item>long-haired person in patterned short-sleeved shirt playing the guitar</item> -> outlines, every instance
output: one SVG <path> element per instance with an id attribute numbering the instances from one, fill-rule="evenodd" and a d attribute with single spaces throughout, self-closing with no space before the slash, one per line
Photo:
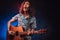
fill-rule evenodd
<path id="1" fill-rule="evenodd" d="M 28 30 L 28 35 L 30 32 L 33 33 L 34 29 L 36 28 L 36 18 L 34 16 L 34 9 L 28 0 L 21 3 L 21 6 L 19 7 L 19 13 L 8 21 L 8 30 L 11 26 L 11 23 L 15 20 L 18 21 L 18 26 L 22 26 L 24 28 L 24 31 Z M 25 36 L 25 40 L 31 40 L 31 36 Z"/>

